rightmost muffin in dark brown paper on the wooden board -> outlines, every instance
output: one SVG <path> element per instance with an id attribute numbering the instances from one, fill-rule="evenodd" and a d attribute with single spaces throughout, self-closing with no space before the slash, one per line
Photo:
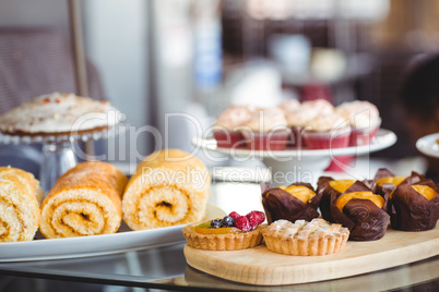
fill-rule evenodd
<path id="1" fill-rule="evenodd" d="M 424 231 L 436 227 L 439 219 L 439 186 L 426 179 L 403 182 L 389 195 L 389 214 L 393 229 Z"/>

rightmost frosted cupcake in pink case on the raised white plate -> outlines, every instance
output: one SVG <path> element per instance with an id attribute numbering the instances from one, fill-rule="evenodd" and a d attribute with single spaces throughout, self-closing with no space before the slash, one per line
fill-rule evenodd
<path id="1" fill-rule="evenodd" d="M 381 125 L 378 108 L 365 100 L 344 102 L 335 108 L 352 127 L 349 146 L 367 145 Z"/>

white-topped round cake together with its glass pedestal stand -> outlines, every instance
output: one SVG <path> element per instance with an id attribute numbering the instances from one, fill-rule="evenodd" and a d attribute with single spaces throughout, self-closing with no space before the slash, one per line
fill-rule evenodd
<path id="1" fill-rule="evenodd" d="M 108 101 L 73 94 L 38 96 L 0 117 L 0 143 L 43 145 L 39 180 L 47 193 L 56 180 L 76 165 L 76 156 L 88 160 L 78 142 L 117 136 L 126 130 L 126 117 Z"/>

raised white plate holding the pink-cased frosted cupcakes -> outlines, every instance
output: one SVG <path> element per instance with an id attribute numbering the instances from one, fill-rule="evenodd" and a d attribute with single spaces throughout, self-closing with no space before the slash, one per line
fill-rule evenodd
<path id="1" fill-rule="evenodd" d="M 333 157 L 333 156 L 345 156 L 345 155 L 364 155 L 368 153 L 378 151 L 388 148 L 395 144 L 396 135 L 389 130 L 380 129 L 372 143 L 369 145 L 346 147 L 346 148 L 334 148 L 334 149 L 294 149 L 286 148 L 285 150 L 275 151 L 264 151 L 264 150 L 250 150 L 250 149 L 230 149 L 221 148 L 216 146 L 216 141 L 214 138 L 201 138 L 194 137 L 192 139 L 193 145 L 226 155 L 236 156 L 256 156 L 256 157 Z"/>

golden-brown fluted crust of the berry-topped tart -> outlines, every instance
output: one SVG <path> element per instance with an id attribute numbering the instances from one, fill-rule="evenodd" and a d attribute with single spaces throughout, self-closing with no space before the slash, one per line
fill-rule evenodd
<path id="1" fill-rule="evenodd" d="M 261 231 L 265 228 L 259 226 L 249 232 L 202 234 L 194 230 L 198 224 L 200 222 L 186 226 L 182 233 L 189 246 L 207 251 L 238 251 L 254 247 L 261 243 Z"/>

